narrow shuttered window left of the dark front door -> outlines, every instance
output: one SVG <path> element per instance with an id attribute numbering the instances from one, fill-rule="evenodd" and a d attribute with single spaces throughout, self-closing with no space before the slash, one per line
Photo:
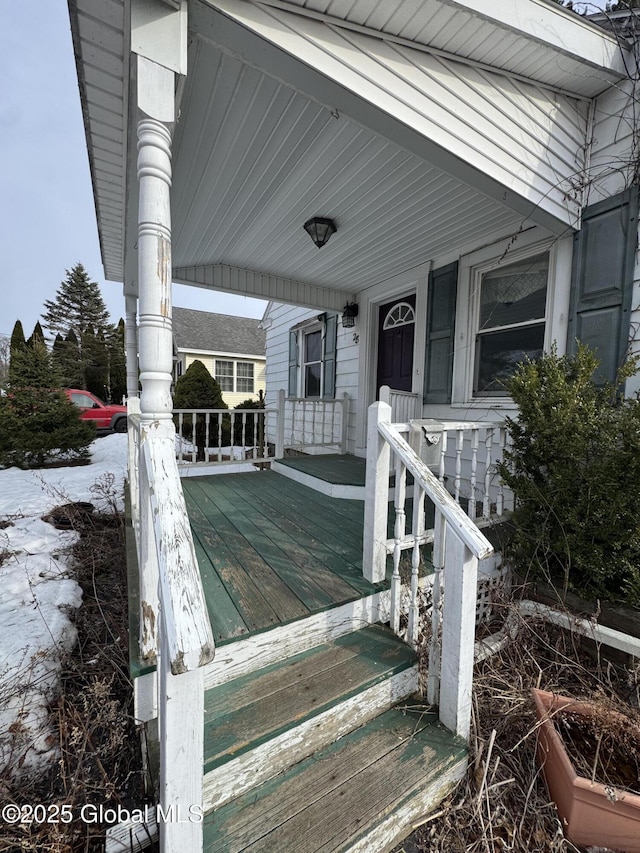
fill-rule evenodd
<path id="1" fill-rule="evenodd" d="M 289 396 L 331 399 L 336 388 L 336 314 L 289 330 Z"/>

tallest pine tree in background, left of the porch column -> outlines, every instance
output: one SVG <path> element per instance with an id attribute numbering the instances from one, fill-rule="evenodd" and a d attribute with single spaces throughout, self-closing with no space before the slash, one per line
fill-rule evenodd
<path id="1" fill-rule="evenodd" d="M 54 300 L 46 300 L 42 321 L 53 334 L 60 333 L 69 340 L 73 332 L 77 345 L 77 369 L 73 368 L 72 348 L 61 363 L 61 380 L 67 387 L 94 390 L 98 396 L 105 396 L 104 380 L 105 348 L 96 344 L 96 335 L 102 334 L 109 340 L 115 333 L 115 327 L 109 322 L 109 312 L 104 304 L 98 283 L 91 281 L 82 264 L 76 264 L 67 270 L 66 278 Z M 88 334 L 91 330 L 91 335 Z M 96 377 L 98 377 L 96 379 Z M 73 381 L 71 381 L 73 378 Z"/>

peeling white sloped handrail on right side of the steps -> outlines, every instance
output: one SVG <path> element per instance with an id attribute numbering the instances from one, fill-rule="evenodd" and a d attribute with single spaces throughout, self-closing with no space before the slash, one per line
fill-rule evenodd
<path id="1" fill-rule="evenodd" d="M 438 504 L 447 522 L 458 532 L 459 538 L 479 560 L 493 553 L 493 545 L 471 521 L 413 448 L 404 440 L 395 426 L 386 421 L 378 423 L 378 432 L 391 449 L 401 458 L 429 498 Z"/>

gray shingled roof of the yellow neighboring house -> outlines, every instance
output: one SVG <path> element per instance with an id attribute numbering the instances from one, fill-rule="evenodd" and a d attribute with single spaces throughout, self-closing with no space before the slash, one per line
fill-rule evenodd
<path id="1" fill-rule="evenodd" d="M 211 314 L 192 308 L 173 309 L 173 339 L 182 350 L 265 355 L 264 329 L 260 320 Z"/>

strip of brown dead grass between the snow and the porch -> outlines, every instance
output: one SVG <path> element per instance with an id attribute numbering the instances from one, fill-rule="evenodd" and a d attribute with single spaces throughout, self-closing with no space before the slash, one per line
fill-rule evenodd
<path id="1" fill-rule="evenodd" d="M 0 851 L 97 853 L 104 850 L 105 827 L 80 820 L 83 806 L 150 801 L 129 680 L 124 518 L 115 511 L 83 512 L 73 516 L 73 527 L 81 534 L 74 557 L 83 604 L 76 614 L 78 644 L 62 662 L 62 690 L 50 708 L 59 760 L 37 781 L 4 784 L 2 800 L 70 806 L 74 819 L 4 825 Z"/>

